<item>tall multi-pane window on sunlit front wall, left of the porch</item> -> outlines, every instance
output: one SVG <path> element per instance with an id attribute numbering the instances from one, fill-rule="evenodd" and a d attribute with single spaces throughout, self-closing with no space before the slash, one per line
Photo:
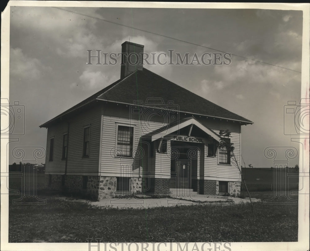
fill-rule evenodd
<path id="1" fill-rule="evenodd" d="M 134 128 L 118 125 L 117 129 L 117 156 L 131 156 Z"/>

